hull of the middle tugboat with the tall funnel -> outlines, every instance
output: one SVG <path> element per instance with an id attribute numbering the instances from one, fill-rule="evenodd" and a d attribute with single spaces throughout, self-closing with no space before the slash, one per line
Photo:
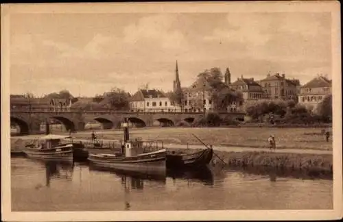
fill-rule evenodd
<path id="1" fill-rule="evenodd" d="M 88 161 L 95 167 L 106 167 L 141 173 L 165 172 L 165 150 L 144 153 L 141 156 L 123 157 L 110 154 L 90 154 Z"/>

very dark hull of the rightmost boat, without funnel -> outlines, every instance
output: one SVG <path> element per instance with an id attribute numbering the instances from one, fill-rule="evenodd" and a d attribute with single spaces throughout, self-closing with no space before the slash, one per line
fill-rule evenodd
<path id="1" fill-rule="evenodd" d="M 213 158 L 213 149 L 204 149 L 197 153 L 166 155 L 166 165 L 170 169 L 206 167 Z"/>

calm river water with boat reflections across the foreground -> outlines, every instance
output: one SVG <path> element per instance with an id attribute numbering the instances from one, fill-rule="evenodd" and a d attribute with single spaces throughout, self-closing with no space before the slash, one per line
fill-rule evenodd
<path id="1" fill-rule="evenodd" d="M 233 169 L 128 175 L 88 164 L 11 158 L 13 211 L 333 208 L 333 181 Z M 298 178 L 297 178 L 298 177 Z"/>

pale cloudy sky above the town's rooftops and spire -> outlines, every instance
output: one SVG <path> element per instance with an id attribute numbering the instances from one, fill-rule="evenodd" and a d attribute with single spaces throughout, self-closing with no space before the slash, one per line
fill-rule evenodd
<path id="1" fill-rule="evenodd" d="M 91 97 L 143 84 L 172 89 L 204 69 L 231 79 L 285 73 L 331 79 L 329 12 L 10 15 L 10 93 Z"/>

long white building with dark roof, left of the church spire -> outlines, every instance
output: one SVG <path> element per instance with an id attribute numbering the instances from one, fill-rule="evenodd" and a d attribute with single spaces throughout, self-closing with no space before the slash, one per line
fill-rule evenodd
<path id="1" fill-rule="evenodd" d="M 160 90 L 138 90 L 130 99 L 132 112 L 179 112 L 170 99 Z"/>

